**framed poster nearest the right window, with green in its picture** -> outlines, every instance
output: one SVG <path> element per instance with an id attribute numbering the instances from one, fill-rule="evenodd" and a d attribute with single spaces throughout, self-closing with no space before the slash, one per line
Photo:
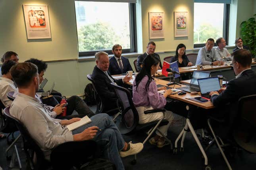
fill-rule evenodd
<path id="1" fill-rule="evenodd" d="M 174 37 L 188 36 L 188 12 L 174 12 Z"/>

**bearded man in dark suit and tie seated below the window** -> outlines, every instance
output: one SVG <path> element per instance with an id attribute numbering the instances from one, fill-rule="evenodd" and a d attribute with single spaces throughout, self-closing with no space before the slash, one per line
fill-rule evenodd
<path id="1" fill-rule="evenodd" d="M 125 57 L 122 57 L 122 46 L 115 44 L 112 48 L 113 57 L 109 59 L 110 65 L 108 71 L 111 75 L 123 74 L 127 71 L 133 71 L 129 60 Z"/>

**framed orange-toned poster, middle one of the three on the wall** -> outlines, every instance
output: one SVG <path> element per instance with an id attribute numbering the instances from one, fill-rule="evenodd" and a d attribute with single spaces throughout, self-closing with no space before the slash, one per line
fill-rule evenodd
<path id="1" fill-rule="evenodd" d="M 164 38 L 164 12 L 149 12 L 149 39 Z"/>

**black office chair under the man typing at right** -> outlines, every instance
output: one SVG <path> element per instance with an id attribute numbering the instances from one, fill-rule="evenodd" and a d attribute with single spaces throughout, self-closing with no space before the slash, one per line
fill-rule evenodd
<path id="1" fill-rule="evenodd" d="M 224 144 L 223 139 L 221 139 L 216 132 L 214 132 L 214 128 L 211 123 L 217 122 L 220 124 L 227 124 L 225 119 L 219 119 L 216 117 L 210 117 L 208 119 L 208 126 L 214 136 L 214 139 L 210 143 L 212 145 L 214 142 L 218 145 L 218 148 L 223 156 L 224 161 L 226 162 L 229 170 L 232 170 L 229 162 L 227 161 L 227 157 L 223 152 L 223 147 L 227 147 L 229 145 L 235 147 L 241 147 L 250 153 L 256 153 L 256 110 L 254 105 L 256 103 L 256 94 L 243 96 L 238 100 L 238 110 L 237 117 L 235 117 L 234 121 L 230 123 L 229 130 L 231 136 L 227 138 L 227 136 L 223 136 L 224 139 L 227 140 L 228 144 Z M 222 131 L 225 129 L 222 129 Z M 210 147 L 206 148 L 206 150 Z"/>

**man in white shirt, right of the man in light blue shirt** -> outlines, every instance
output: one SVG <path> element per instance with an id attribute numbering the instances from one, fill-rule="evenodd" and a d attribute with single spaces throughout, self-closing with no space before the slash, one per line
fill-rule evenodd
<path id="1" fill-rule="evenodd" d="M 219 55 L 219 57 L 225 61 L 231 61 L 230 53 L 227 51 L 226 48 L 226 41 L 224 38 L 218 38 L 216 40 L 217 48 L 216 48 L 216 54 Z"/>

